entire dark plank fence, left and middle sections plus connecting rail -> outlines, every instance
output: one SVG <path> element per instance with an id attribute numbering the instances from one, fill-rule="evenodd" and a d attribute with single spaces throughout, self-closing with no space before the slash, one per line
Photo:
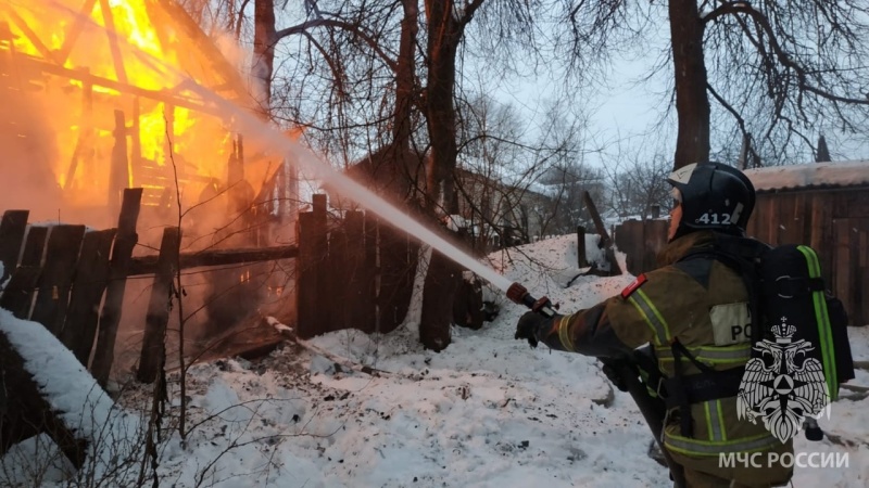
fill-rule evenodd
<path id="1" fill-rule="evenodd" d="M 298 246 L 180 253 L 180 230 L 167 227 L 158 255 L 134 257 L 140 205 L 141 189 L 126 190 L 116 229 L 27 230 L 27 210 L 5 211 L 0 224 L 0 260 L 10 277 L 0 307 L 45 325 L 102 386 L 131 275 L 153 275 L 137 369 L 143 383 L 154 381 L 165 359 L 167 304 L 181 269 L 298 258 L 295 296 L 287 299 L 295 299 L 297 317 L 289 319 L 303 338 L 343 329 L 388 333 L 407 314 L 419 244 L 362 211 L 330 216 L 326 195 L 314 195 L 313 211 L 299 214 Z M 481 326 L 481 300 L 479 290 L 462 287 L 456 323 Z"/>

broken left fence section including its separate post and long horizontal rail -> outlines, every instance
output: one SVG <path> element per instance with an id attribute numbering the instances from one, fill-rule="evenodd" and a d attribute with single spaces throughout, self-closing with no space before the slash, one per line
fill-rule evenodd
<path id="1" fill-rule="evenodd" d="M 114 363 L 127 278 L 153 275 L 137 378 L 152 382 L 164 358 L 167 306 L 181 269 L 260 262 L 298 256 L 298 246 L 180 253 L 180 230 L 163 231 L 160 254 L 133 256 L 141 189 L 124 191 L 116 229 L 27 224 L 29 211 L 7 210 L 0 221 L 0 261 L 9 279 L 0 307 L 45 325 L 103 387 Z"/>

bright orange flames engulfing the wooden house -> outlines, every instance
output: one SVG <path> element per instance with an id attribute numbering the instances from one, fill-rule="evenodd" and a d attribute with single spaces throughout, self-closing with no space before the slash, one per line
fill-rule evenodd
<path id="1" fill-rule="evenodd" d="M 105 207 L 121 188 L 142 187 L 143 205 L 166 205 L 177 174 L 189 206 L 212 178 L 227 178 L 230 129 L 178 85 L 189 77 L 226 97 L 244 90 L 237 72 L 215 67 L 213 44 L 193 49 L 204 36 L 190 37 L 196 26 L 178 22 L 178 9 L 158 0 L 0 0 L 0 62 L 9 60 L 0 75 L 10 98 L 23 97 L 5 121 L 27 147 L 43 149 L 23 153 L 32 164 L 45 158 L 64 204 Z"/>

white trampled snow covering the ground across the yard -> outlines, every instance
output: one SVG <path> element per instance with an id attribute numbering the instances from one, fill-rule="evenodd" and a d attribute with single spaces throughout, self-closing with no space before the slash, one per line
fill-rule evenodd
<path id="1" fill-rule="evenodd" d="M 562 310 L 588 307 L 632 281 L 628 274 L 579 275 L 575 239 L 527 244 L 490 255 L 487 262 L 536 297 L 550 297 Z M 592 242 L 587 248 L 595 248 Z M 388 335 L 329 333 L 307 342 L 312 348 L 288 343 L 257 361 L 194 364 L 187 376 L 186 439 L 177 429 L 166 432 L 158 449 L 161 484 L 669 486 L 666 470 L 647 455 L 651 434 L 630 397 L 616 390 L 610 407 L 599 404 L 612 389 L 593 359 L 531 349 L 515 341 L 516 320 L 526 310 L 503 298 L 502 292 L 487 294 L 498 300 L 499 317 L 478 331 L 454 329 L 452 344 L 437 354 L 423 349 L 415 325 L 406 324 Z M 105 428 L 116 439 L 138 439 L 142 445 L 141 433 L 118 419 L 148 411 L 150 386 L 130 385 L 110 404 L 72 355 L 40 325 L 5 311 L 0 324 L 28 358 L 56 407 L 74 411 L 88 403 L 86 411 L 99 413 L 88 428 L 108 418 Z M 286 329 L 274 319 L 270 324 Z M 869 359 L 869 328 L 851 329 L 849 334 L 855 360 Z M 347 368 L 348 363 L 367 367 L 367 373 Z M 171 407 L 164 427 L 177 425 L 177 373 L 169 377 Z M 852 383 L 868 386 L 869 373 L 858 371 Z M 112 411 L 129 414 L 106 413 Z M 794 486 L 866 486 L 869 400 L 846 396 L 833 403 L 832 418 L 820 423 L 845 445 L 809 442 L 801 435 L 796 450 L 847 452 L 848 466 L 797 466 Z M 70 467 L 49 463 L 47 450 L 42 436 L 15 446 L 2 460 L 0 485 L 34 486 L 34 473 L 42 477 L 40 486 L 72 484 L 63 481 L 64 476 L 74 476 Z M 98 463 L 89 474 L 114 476 L 106 486 L 133 486 L 140 464 L 141 452 L 126 471 L 110 473 Z"/>

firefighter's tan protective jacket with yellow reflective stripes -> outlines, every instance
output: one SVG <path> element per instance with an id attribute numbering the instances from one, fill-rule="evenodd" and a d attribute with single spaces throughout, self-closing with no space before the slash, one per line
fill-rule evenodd
<path id="1" fill-rule="evenodd" d="M 748 296 L 735 271 L 710 255 L 680 260 L 708 248 L 716 234 L 693 232 L 672 241 L 658 256 L 660 268 L 645 274 L 601 304 L 542 324 L 538 339 L 559 350 L 595 357 L 627 356 L 651 344 L 667 377 L 698 373 L 692 361 L 675 358 L 673 345 L 684 346 L 700 362 L 716 371 L 740 369 L 751 358 Z M 677 352 L 678 355 L 678 352 Z M 734 370 L 738 372 L 738 370 Z M 746 486 L 774 486 L 790 479 L 792 470 L 767 465 L 768 452 L 793 452 L 761 422 L 738 419 L 735 396 L 690 406 L 691 428 L 680 426 L 679 407 L 668 410 L 664 445 L 685 468 L 736 480 Z M 682 427 L 682 428 L 680 428 Z M 722 466 L 719 453 L 764 455 L 763 468 L 746 463 Z M 743 458 L 744 459 L 744 458 Z M 750 463 L 748 463 L 750 464 Z"/>

